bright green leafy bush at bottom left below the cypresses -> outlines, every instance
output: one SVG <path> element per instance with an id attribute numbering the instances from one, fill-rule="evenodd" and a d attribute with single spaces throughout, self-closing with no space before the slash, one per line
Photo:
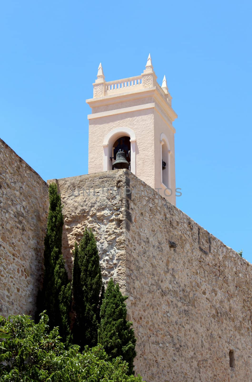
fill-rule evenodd
<path id="1" fill-rule="evenodd" d="M 120 358 L 108 361 L 101 347 L 83 354 L 78 346 L 65 350 L 57 328 L 49 332 L 43 312 L 38 324 L 28 316 L 0 316 L 0 382 L 142 382 L 127 376 L 128 365 Z"/>

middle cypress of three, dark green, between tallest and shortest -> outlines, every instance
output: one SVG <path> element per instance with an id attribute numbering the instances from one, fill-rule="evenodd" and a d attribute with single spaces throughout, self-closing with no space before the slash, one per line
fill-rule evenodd
<path id="1" fill-rule="evenodd" d="M 73 250 L 73 343 L 83 350 L 97 345 L 99 325 L 99 298 L 102 286 L 99 254 L 96 240 L 90 230 L 85 229 L 79 246 Z"/>

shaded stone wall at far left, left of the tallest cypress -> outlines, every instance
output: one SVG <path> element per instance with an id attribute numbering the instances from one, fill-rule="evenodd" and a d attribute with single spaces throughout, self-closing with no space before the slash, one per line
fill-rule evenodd
<path id="1" fill-rule="evenodd" d="M 33 314 L 43 270 L 45 181 L 0 139 L 0 314 Z"/>

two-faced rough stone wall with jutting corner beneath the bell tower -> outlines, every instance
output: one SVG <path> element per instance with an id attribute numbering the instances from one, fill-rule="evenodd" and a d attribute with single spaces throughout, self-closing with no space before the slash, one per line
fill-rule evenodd
<path id="1" fill-rule="evenodd" d="M 128 170 L 57 182 L 69 268 L 90 227 L 104 280 L 129 296 L 136 372 L 147 382 L 250 380 L 252 265 Z"/>

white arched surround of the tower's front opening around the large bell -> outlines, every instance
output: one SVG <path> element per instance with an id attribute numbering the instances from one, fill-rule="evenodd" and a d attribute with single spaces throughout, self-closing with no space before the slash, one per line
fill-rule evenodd
<path id="1" fill-rule="evenodd" d="M 113 151 L 115 149 L 116 141 L 124 138 L 130 146 L 130 164 L 131 172 L 136 175 L 136 134 L 128 127 L 116 128 L 110 131 L 103 141 L 103 171 L 112 170 Z"/>

